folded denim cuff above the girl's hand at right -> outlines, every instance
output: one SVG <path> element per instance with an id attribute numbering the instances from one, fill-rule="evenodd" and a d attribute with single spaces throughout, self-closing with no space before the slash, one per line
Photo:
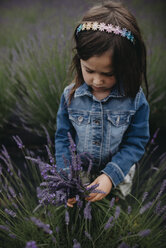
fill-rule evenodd
<path id="1" fill-rule="evenodd" d="M 119 183 L 123 182 L 125 178 L 125 175 L 121 168 L 113 162 L 108 163 L 107 166 L 101 172 L 109 176 L 114 187 L 116 187 Z"/>

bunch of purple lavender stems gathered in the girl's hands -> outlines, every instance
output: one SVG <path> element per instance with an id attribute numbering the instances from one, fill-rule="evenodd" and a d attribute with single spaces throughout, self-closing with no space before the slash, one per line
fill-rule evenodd
<path id="1" fill-rule="evenodd" d="M 42 162 L 40 159 L 34 159 L 27 157 L 28 159 L 37 162 L 40 166 L 41 175 L 43 177 L 43 182 L 40 187 L 37 188 L 37 196 L 40 205 L 61 205 L 67 204 L 67 200 L 72 197 L 76 199 L 84 199 L 90 193 L 101 192 L 97 190 L 98 184 L 87 188 L 87 184 L 83 183 L 80 156 L 76 153 L 76 145 L 74 144 L 70 134 L 70 153 L 71 153 L 71 163 L 69 167 L 65 169 L 59 169 L 54 164 L 54 159 L 51 158 L 51 153 L 49 152 L 50 164 Z M 47 147 L 47 152 L 48 152 Z M 90 172 L 91 163 L 89 164 L 89 169 L 87 176 Z"/>

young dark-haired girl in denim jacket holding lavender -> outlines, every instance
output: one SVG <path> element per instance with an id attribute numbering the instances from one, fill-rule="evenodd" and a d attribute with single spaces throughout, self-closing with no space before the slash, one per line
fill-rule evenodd
<path id="1" fill-rule="evenodd" d="M 68 132 L 78 154 L 92 158 L 93 184 L 105 193 L 125 180 L 149 140 L 149 106 L 141 88 L 146 79 L 146 49 L 134 16 L 120 3 L 91 8 L 74 32 L 75 79 L 64 89 L 57 113 L 56 163 L 70 161 Z M 87 156 L 82 157 L 86 170 Z M 73 206 L 75 199 L 68 200 Z"/>

